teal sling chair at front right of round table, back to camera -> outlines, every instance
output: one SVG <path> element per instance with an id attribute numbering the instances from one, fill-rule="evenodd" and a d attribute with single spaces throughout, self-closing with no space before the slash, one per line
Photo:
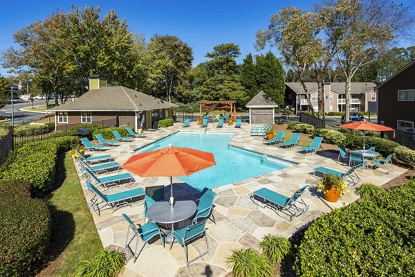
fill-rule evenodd
<path id="1" fill-rule="evenodd" d="M 205 224 L 207 220 L 203 220 L 196 224 L 190 224 L 188 226 L 183 227 L 182 229 L 174 230 L 172 232 L 173 235 L 173 242 L 170 245 L 170 250 L 172 250 L 172 246 L 174 244 L 174 241 L 177 240 L 181 246 L 183 246 L 183 250 L 185 251 L 185 258 L 186 258 L 186 265 L 189 267 L 191 262 L 194 262 L 195 260 L 201 258 L 202 256 L 205 256 L 207 253 L 209 253 L 209 244 L 208 244 L 208 234 L 206 233 Z M 196 238 L 201 238 L 202 236 L 205 236 L 206 240 L 206 248 L 207 250 L 203 253 L 201 253 L 196 258 L 193 258 L 192 260 L 189 260 L 189 256 L 187 253 L 187 245 L 189 245 L 191 242 L 196 240 Z"/>

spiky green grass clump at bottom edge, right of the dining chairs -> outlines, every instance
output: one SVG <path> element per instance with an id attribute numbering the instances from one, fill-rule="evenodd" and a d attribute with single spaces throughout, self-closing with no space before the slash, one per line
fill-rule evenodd
<path id="1" fill-rule="evenodd" d="M 253 249 L 237 249 L 226 258 L 228 267 L 232 267 L 234 277 L 272 276 L 273 269 L 268 259 Z"/>

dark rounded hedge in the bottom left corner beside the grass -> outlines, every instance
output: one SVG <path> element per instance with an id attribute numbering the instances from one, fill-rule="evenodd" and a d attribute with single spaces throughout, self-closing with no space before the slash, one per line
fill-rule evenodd
<path id="1" fill-rule="evenodd" d="M 28 184 L 0 182 L 0 276 L 29 276 L 50 238 L 50 213 Z"/>

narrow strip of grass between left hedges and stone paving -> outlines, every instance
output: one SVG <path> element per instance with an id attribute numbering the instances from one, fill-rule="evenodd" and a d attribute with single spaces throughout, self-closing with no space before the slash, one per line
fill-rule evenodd
<path id="1" fill-rule="evenodd" d="M 48 199 L 52 215 L 49 262 L 38 276 L 73 276 L 81 260 L 91 260 L 102 248 L 71 154 L 58 159 L 56 174 L 57 188 Z"/>

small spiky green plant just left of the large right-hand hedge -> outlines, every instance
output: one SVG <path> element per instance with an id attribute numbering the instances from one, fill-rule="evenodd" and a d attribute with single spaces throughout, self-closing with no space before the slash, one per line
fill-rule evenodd
<path id="1" fill-rule="evenodd" d="M 291 249 L 291 242 L 282 236 L 268 234 L 259 242 L 259 247 L 261 247 L 262 253 L 268 257 L 271 265 L 275 265 L 288 254 Z"/>

